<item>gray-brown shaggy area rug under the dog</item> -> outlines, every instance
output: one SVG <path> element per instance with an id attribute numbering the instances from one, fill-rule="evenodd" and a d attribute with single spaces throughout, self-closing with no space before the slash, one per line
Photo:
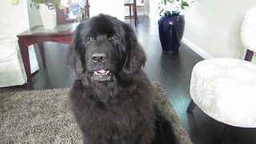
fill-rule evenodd
<path id="1" fill-rule="evenodd" d="M 155 101 L 172 122 L 180 143 L 190 138 L 159 82 L 152 82 Z M 67 108 L 69 89 L 0 93 L 0 143 L 82 143 Z"/>

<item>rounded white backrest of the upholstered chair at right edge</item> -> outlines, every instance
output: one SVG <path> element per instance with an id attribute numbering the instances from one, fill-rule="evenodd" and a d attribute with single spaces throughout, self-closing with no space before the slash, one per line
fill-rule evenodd
<path id="1" fill-rule="evenodd" d="M 250 8 L 245 14 L 241 28 L 242 45 L 246 49 L 256 51 L 256 6 Z"/>

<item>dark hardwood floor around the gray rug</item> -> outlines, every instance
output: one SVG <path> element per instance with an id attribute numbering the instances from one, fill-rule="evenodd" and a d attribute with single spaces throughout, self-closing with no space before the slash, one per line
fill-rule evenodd
<path id="1" fill-rule="evenodd" d="M 134 26 L 134 22 L 126 20 Z M 134 31 L 138 36 L 138 41 L 146 50 L 147 62 L 144 71 L 150 81 L 162 83 L 166 94 L 170 98 L 178 117 L 183 126 L 190 134 L 193 143 L 212 143 L 214 130 L 218 124 L 214 119 L 208 117 L 197 107 L 193 114 L 187 114 L 186 108 L 190 103 L 190 74 L 194 65 L 202 61 L 202 58 L 195 54 L 193 50 L 184 45 L 176 53 L 162 52 L 159 38 L 157 22 L 152 22 L 150 18 L 139 17 L 139 24 Z M 38 55 L 40 70 L 33 74 L 34 90 L 45 90 L 54 88 L 70 87 L 74 74 L 69 66 L 65 64 L 64 53 L 67 45 L 46 42 L 46 70 L 42 69 L 42 62 Z M 29 90 L 26 85 L 1 88 L 0 92 Z M 256 129 L 245 129 L 234 126 L 227 126 L 223 144 L 256 144 Z"/>

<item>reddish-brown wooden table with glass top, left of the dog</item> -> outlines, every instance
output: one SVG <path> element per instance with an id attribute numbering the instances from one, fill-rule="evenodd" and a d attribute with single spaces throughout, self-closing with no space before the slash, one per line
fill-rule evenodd
<path id="1" fill-rule="evenodd" d="M 45 30 L 43 26 L 34 26 L 29 30 L 18 34 L 18 45 L 22 54 L 22 61 L 26 71 L 27 83 L 33 88 L 33 82 L 30 71 L 30 56 L 28 46 L 38 43 L 38 48 L 42 58 L 43 68 L 46 69 L 46 57 L 43 42 L 60 42 L 70 44 L 73 38 L 73 31 L 76 29 L 77 23 L 69 25 L 56 26 L 54 30 Z"/>

